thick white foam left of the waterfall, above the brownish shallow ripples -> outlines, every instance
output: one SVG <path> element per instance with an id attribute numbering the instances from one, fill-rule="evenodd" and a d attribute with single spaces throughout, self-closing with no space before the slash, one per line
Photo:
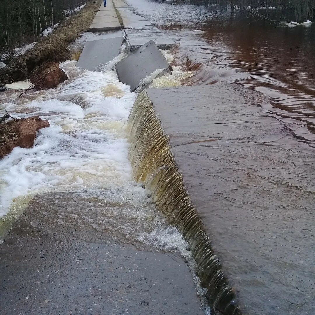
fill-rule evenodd
<path id="1" fill-rule="evenodd" d="M 124 123 L 135 100 L 113 71 L 90 72 L 75 62 L 61 64 L 72 77 L 56 89 L 11 100 L 0 107 L 14 117 L 39 115 L 50 127 L 41 129 L 31 149 L 14 148 L 0 160 L 0 216 L 14 199 L 37 192 L 117 187 L 131 180 Z M 121 98 L 106 97 L 102 88 L 116 86 Z M 26 88 L 28 82 L 9 85 Z M 80 106 L 79 103 L 84 103 Z"/>

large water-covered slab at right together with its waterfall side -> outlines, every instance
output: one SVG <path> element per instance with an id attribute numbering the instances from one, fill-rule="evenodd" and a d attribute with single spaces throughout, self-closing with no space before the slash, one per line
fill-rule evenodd
<path id="1" fill-rule="evenodd" d="M 190 244 L 213 309 L 312 314 L 313 192 L 287 162 L 306 171 L 311 156 L 253 98 L 227 83 L 146 89 L 128 119 L 133 175 Z"/>

